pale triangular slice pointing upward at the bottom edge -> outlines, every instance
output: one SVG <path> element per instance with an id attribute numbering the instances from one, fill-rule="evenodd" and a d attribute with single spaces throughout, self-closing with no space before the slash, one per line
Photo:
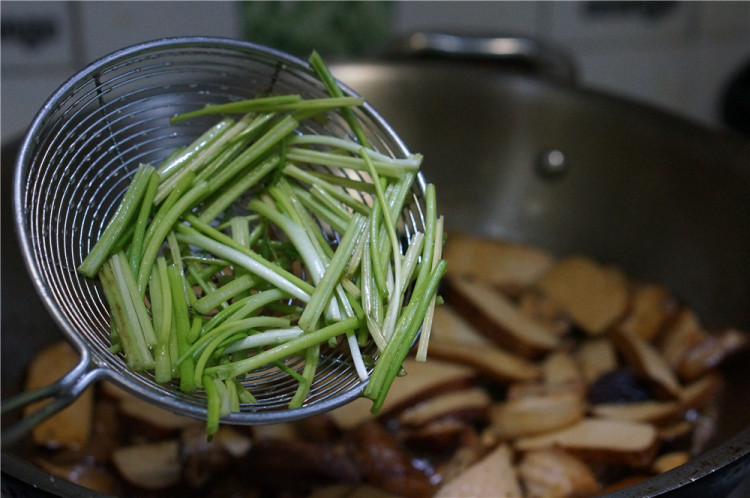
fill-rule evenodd
<path id="1" fill-rule="evenodd" d="M 512 459 L 510 448 L 507 445 L 500 445 L 463 473 L 443 484 L 435 493 L 435 497 L 521 497 L 523 496 L 521 486 Z"/>

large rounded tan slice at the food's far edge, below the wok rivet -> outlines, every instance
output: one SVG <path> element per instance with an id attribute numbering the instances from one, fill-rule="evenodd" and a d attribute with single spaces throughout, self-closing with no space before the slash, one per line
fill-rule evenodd
<path id="1" fill-rule="evenodd" d="M 535 285 L 592 335 L 607 331 L 628 309 L 625 275 L 588 258 L 560 259 Z"/>

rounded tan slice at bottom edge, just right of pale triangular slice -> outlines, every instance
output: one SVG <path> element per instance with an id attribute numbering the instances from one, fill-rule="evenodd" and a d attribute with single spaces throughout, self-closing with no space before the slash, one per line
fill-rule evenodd
<path id="1" fill-rule="evenodd" d="M 518 464 L 526 496 L 590 496 L 599 490 L 591 468 L 566 451 L 549 448 L 525 453 Z"/>

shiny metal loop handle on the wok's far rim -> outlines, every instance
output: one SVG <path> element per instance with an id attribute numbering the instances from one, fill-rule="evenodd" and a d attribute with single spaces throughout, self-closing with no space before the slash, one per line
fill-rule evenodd
<path id="1" fill-rule="evenodd" d="M 519 36 L 478 36 L 420 31 L 394 41 L 388 55 L 442 57 L 525 67 L 563 84 L 575 84 L 577 67 L 563 50 Z"/>

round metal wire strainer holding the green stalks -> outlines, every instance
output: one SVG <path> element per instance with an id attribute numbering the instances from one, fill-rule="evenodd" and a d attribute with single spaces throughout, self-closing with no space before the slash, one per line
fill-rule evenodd
<path id="1" fill-rule="evenodd" d="M 103 293 L 76 267 L 103 231 L 138 164 L 159 164 L 215 121 L 198 118 L 171 125 L 170 116 L 207 103 L 268 93 L 327 96 L 309 65 L 284 53 L 222 38 L 171 38 L 126 48 L 91 64 L 40 110 L 18 157 L 15 221 L 34 285 L 81 360 L 59 382 L 4 400 L 5 411 L 38 398 L 53 398 L 11 431 L 25 432 L 102 378 L 175 413 L 205 419 L 201 390 L 186 394 L 177 385 L 157 384 L 150 373 L 131 371 L 122 356 L 108 351 L 109 311 Z M 408 155 L 371 107 L 365 105 L 357 113 L 374 148 L 392 157 Z M 350 135 L 338 117 L 324 125 L 303 126 L 318 133 Z M 406 239 L 424 229 L 424 188 L 419 176 L 411 206 L 399 222 Z M 292 368 L 302 367 L 298 358 L 288 362 Z M 266 424 L 321 413 L 357 398 L 365 382 L 344 352 L 321 358 L 309 399 L 299 409 L 287 408 L 296 382 L 282 379 L 275 368 L 255 372 L 245 384 L 252 387 L 258 402 L 242 405 L 224 422 Z"/>

